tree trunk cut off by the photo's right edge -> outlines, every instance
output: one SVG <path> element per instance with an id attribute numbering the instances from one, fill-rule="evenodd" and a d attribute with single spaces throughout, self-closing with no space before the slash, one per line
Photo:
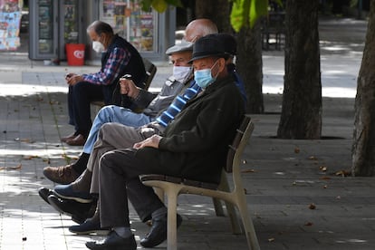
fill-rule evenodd
<path id="1" fill-rule="evenodd" d="M 355 97 L 352 173 L 375 173 L 375 3 L 370 2 L 369 26 Z"/>

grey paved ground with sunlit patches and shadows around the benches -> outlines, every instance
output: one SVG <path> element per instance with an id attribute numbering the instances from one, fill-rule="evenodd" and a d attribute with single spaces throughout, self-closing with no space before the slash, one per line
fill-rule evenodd
<path id="1" fill-rule="evenodd" d="M 352 92 L 361 63 L 361 53 L 351 44 L 324 47 L 348 49 L 322 53 L 323 91 L 331 86 L 342 94 L 324 97 L 319 140 L 274 139 L 284 57 L 264 53 L 265 114 L 252 116 L 255 131 L 242 166 L 262 249 L 375 249 L 374 178 L 345 175 L 351 168 Z M 97 67 L 31 65 L 17 53 L 1 53 L 0 59 L 0 249 L 87 249 L 86 241 L 102 236 L 70 233 L 70 217 L 43 202 L 37 189 L 53 187 L 43 178 L 43 167 L 65 165 L 82 150 L 60 142 L 72 132 L 63 75 Z M 167 63 L 158 66 L 156 78 L 164 82 L 170 69 Z M 179 249 L 247 249 L 245 236 L 231 234 L 229 220 L 215 216 L 209 198 L 181 196 L 178 213 L 184 218 Z M 130 217 L 139 241 L 149 227 L 133 210 Z"/>

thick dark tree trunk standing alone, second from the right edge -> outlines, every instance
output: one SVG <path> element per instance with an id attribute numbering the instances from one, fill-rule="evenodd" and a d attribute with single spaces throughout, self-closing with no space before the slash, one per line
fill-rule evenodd
<path id="1" fill-rule="evenodd" d="M 284 94 L 278 138 L 321 138 L 318 5 L 318 0 L 286 1 Z"/>

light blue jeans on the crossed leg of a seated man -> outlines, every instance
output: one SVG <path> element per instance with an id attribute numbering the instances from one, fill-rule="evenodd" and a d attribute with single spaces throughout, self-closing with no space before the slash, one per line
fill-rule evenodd
<path id="1" fill-rule="evenodd" d="M 153 120 L 155 120 L 155 118 L 151 118 L 144 113 L 135 113 L 129 109 L 115 105 L 105 106 L 101 108 L 92 122 L 89 136 L 83 146 L 83 152 L 86 154 L 91 154 L 93 145 L 98 138 L 98 132 L 104 123 L 118 122 L 126 126 L 138 128 Z"/>

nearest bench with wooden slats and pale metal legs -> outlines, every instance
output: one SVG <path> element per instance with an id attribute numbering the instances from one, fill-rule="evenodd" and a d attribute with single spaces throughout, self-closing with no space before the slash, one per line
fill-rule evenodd
<path id="1" fill-rule="evenodd" d="M 176 250 L 177 245 L 177 202 L 180 194 L 194 194 L 199 196 L 213 197 L 216 207 L 216 215 L 222 213 L 220 200 L 226 202 L 226 212 L 231 220 L 234 234 L 241 233 L 238 224 L 235 205 L 242 218 L 244 233 L 249 249 L 260 249 L 255 234 L 253 221 L 247 208 L 245 189 L 242 184 L 240 163 L 243 151 L 254 130 L 254 124 L 250 117 L 245 116 L 240 127 L 236 131 L 236 137 L 227 153 L 226 166 L 223 168 L 219 186 L 212 183 L 199 182 L 186 178 L 175 178 L 162 175 L 142 175 L 140 180 L 144 185 L 156 187 L 162 190 L 168 199 L 168 250 Z M 226 173 L 232 173 L 233 188 L 230 190 Z M 160 193 L 159 193 L 160 195 Z M 221 211 L 220 211 L 221 210 Z"/>

